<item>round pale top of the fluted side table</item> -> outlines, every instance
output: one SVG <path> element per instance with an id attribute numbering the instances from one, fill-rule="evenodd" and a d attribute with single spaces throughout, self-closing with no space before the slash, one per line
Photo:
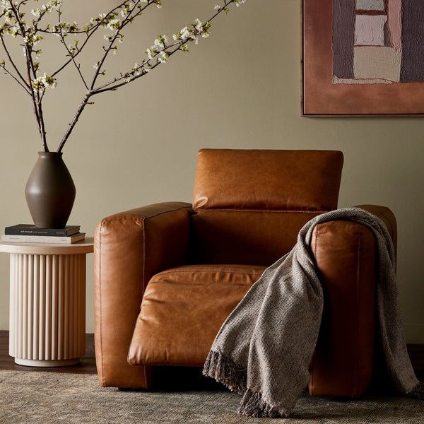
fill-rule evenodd
<path id="1" fill-rule="evenodd" d="M 0 252 L 18 254 L 82 254 L 93 253 L 93 237 L 71 245 L 52 245 L 51 243 L 0 242 Z"/>

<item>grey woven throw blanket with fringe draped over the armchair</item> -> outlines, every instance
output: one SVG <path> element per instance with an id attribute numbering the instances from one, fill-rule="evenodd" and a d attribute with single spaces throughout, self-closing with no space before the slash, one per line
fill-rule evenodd
<path id="1" fill-rule="evenodd" d="M 306 223 L 295 247 L 264 271 L 218 332 L 203 372 L 242 395 L 238 413 L 287 417 L 307 387 L 324 303 L 309 246 L 314 227 L 329 220 L 355 221 L 374 232 L 379 335 L 387 370 L 400 394 L 423 399 L 406 351 L 389 232 L 371 213 L 345 208 Z"/>

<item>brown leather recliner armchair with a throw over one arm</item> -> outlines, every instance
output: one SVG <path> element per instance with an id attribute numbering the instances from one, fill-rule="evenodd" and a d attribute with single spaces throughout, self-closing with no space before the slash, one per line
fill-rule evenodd
<path id="1" fill-rule="evenodd" d="M 205 149 L 193 205 L 103 219 L 95 232 L 102 386 L 148 388 L 153 365 L 201 367 L 266 266 L 295 245 L 303 224 L 337 207 L 342 166 L 338 151 Z M 384 220 L 396 243 L 393 213 L 360 207 Z M 358 223 L 332 221 L 317 226 L 310 248 L 325 293 L 310 394 L 360 396 L 373 368 L 374 237 Z"/>

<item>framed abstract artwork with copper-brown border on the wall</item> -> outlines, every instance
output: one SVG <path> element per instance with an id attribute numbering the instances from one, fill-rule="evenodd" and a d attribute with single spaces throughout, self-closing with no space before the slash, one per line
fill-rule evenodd
<path id="1" fill-rule="evenodd" d="M 303 0 L 302 114 L 424 114 L 423 0 Z"/>

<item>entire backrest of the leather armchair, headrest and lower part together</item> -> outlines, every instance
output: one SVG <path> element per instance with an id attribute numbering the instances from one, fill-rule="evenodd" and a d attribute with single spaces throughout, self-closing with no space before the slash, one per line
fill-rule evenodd
<path id="1" fill-rule="evenodd" d="M 342 167 L 338 151 L 202 149 L 192 261 L 272 264 L 302 225 L 337 207 Z"/>

